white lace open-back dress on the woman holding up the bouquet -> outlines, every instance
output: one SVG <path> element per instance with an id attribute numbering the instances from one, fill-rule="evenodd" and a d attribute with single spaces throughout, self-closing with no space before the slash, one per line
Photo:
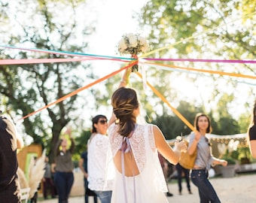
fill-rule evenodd
<path id="1" fill-rule="evenodd" d="M 117 133 L 117 125 L 114 123 L 108 129 L 108 136 L 114 157 L 123 141 L 123 136 Z M 167 187 L 155 147 L 153 125 L 137 125 L 129 141 L 139 168 L 139 175 L 125 177 L 127 202 L 134 203 L 134 198 L 136 198 L 136 203 L 168 202 L 164 194 L 167 192 Z M 122 174 L 116 169 L 111 203 L 125 203 L 123 188 Z"/>

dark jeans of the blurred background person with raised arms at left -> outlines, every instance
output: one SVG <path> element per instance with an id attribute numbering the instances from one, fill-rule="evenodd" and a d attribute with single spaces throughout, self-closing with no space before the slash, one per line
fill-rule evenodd
<path id="1" fill-rule="evenodd" d="M 74 183 L 74 174 L 72 172 L 56 171 L 54 183 L 59 195 L 59 203 L 67 203 Z"/>

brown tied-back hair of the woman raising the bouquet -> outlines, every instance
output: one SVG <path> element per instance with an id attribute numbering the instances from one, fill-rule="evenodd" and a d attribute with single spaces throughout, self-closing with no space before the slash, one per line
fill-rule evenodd
<path id="1" fill-rule="evenodd" d="M 133 111 L 139 108 L 136 91 L 131 88 L 120 87 L 111 97 L 111 105 L 119 124 L 118 133 L 127 137 L 136 125 Z"/>

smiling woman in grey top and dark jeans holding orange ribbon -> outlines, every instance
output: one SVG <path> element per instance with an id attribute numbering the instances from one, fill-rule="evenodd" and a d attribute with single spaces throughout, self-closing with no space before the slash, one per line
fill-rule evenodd
<path id="1" fill-rule="evenodd" d="M 194 128 L 195 132 L 190 134 L 188 145 L 188 153 L 190 155 L 197 149 L 197 158 L 191 171 L 191 180 L 198 188 L 201 203 L 220 203 L 221 201 L 208 179 L 208 170 L 211 165 L 226 166 L 227 161 L 212 156 L 211 144 L 209 144 L 207 138 L 207 133 L 212 132 L 212 127 L 206 114 L 197 114 L 194 120 Z"/>

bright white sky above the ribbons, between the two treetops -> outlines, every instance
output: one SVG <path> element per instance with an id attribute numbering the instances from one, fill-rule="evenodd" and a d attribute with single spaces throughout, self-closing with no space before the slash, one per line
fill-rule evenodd
<path id="1" fill-rule="evenodd" d="M 132 15 L 133 12 L 139 12 L 146 2 L 146 0 L 90 2 L 92 4 L 90 6 L 95 9 L 97 19 L 96 34 L 92 36 L 93 46 L 90 50 L 100 55 L 117 55 L 116 45 L 123 34 L 142 32 Z M 104 46 L 101 46 L 102 44 Z"/>

